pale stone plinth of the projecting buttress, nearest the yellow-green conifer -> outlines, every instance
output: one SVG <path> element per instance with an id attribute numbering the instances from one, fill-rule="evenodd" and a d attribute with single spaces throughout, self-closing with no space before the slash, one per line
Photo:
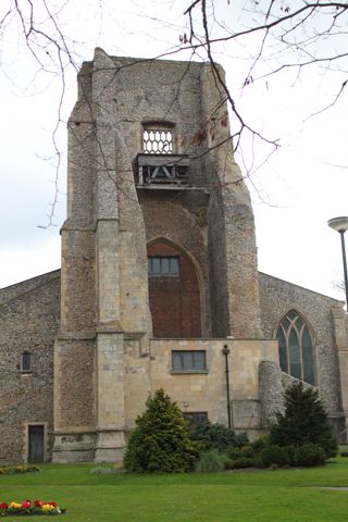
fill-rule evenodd
<path id="1" fill-rule="evenodd" d="M 123 430 L 102 430 L 97 433 L 95 462 L 121 462 L 126 446 Z"/>

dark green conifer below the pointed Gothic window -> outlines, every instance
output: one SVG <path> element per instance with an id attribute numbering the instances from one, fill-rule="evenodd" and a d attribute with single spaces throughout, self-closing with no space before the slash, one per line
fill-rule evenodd
<path id="1" fill-rule="evenodd" d="M 323 448 L 326 458 L 334 457 L 337 439 L 318 391 L 299 382 L 287 388 L 284 397 L 285 411 L 271 427 L 270 444 L 299 448 L 312 443 Z"/>

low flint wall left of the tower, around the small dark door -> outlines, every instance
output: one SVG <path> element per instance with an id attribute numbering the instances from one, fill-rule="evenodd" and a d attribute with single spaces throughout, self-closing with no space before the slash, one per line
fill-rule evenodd
<path id="1" fill-rule="evenodd" d="M 53 343 L 59 326 L 60 273 L 34 277 L 1 290 L 0 463 L 25 462 L 27 425 L 45 425 L 49 458 L 53 428 Z M 12 297 L 15 296 L 15 297 Z M 12 298 L 11 298 L 12 297 Z M 32 372 L 21 355 L 32 355 Z"/>

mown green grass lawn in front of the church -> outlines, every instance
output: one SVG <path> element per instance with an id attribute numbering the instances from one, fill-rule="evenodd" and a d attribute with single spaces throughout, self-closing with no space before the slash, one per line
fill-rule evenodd
<path id="1" fill-rule="evenodd" d="M 67 509 L 58 519 L 64 522 L 348 521 L 348 490 L 320 489 L 348 487 L 348 458 L 324 468 L 211 474 L 96 475 L 92 467 L 45 464 L 0 476 L 0 502 L 55 500 Z"/>

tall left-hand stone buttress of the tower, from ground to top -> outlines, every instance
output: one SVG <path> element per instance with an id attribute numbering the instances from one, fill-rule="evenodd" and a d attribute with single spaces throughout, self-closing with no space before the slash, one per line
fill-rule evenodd
<path id="1" fill-rule="evenodd" d="M 57 462 L 120 458 L 125 341 L 141 357 L 151 332 L 144 221 L 104 88 L 113 74 L 111 61 L 97 51 L 94 64 L 79 74 L 79 101 L 69 122 L 69 210 L 54 357 Z M 147 382 L 142 386 L 146 398 Z"/>

